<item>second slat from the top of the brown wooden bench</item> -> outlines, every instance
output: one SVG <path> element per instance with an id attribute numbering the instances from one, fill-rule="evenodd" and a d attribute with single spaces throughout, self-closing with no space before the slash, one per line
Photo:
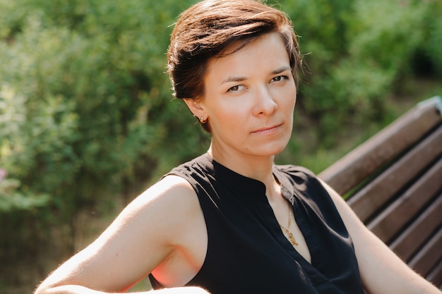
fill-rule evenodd
<path id="1" fill-rule="evenodd" d="M 439 154 L 442 154 L 442 127 L 350 197 L 347 203 L 359 219 L 366 221 Z"/>

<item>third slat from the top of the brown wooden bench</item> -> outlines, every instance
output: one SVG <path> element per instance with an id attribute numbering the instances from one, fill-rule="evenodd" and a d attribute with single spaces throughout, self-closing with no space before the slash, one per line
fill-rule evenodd
<path id="1" fill-rule="evenodd" d="M 439 160 L 398 200 L 368 223 L 367 227 L 387 243 L 441 189 L 441 175 L 442 160 Z"/>

